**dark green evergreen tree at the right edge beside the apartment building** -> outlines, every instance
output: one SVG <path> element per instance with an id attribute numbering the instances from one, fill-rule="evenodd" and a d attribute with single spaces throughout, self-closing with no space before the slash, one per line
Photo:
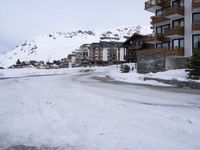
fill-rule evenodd
<path id="1" fill-rule="evenodd" d="M 195 51 L 190 58 L 187 67 L 188 70 L 188 78 L 199 80 L 200 79 L 200 51 Z"/>

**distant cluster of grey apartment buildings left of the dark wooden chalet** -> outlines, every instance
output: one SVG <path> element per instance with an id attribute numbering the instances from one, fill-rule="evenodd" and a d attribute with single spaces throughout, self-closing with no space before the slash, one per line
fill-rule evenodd
<path id="1" fill-rule="evenodd" d="M 100 41 L 84 44 L 68 55 L 73 66 L 112 65 L 126 62 L 123 42 Z"/>

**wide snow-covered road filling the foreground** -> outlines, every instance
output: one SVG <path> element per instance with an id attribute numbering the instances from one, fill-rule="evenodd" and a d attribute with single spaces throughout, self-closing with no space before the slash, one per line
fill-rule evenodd
<path id="1" fill-rule="evenodd" d="M 74 73 L 0 80 L 0 149 L 200 149 L 200 92 L 104 77 Z"/>

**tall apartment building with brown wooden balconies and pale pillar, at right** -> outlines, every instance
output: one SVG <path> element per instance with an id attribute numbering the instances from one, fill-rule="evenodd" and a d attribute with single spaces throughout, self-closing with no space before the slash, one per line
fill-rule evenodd
<path id="1" fill-rule="evenodd" d="M 182 60 L 200 50 L 200 0 L 149 0 L 153 35 L 146 38 L 154 50 L 166 54 L 166 69 L 183 66 Z"/>

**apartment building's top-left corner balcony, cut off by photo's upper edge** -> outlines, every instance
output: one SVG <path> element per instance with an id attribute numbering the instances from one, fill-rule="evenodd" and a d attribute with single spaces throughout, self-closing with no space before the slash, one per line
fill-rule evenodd
<path id="1" fill-rule="evenodd" d="M 155 13 L 157 9 L 170 6 L 170 0 L 149 0 L 145 2 L 145 10 Z"/>

